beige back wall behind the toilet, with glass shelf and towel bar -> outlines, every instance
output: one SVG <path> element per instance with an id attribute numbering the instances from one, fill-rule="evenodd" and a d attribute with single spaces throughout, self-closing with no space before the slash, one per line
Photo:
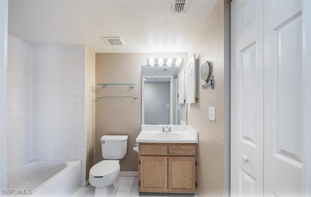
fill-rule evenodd
<path id="1" fill-rule="evenodd" d="M 133 150 L 141 128 L 141 65 L 147 64 L 149 57 L 182 57 L 176 54 L 96 54 L 96 84 L 135 83 L 130 86 L 107 86 L 102 89 L 96 85 L 96 133 L 95 160 L 103 160 L 100 138 L 103 135 L 128 135 L 127 154 L 121 159 L 121 171 L 138 171 L 138 154 Z M 134 96 L 134 98 L 104 98 L 104 96 Z"/>

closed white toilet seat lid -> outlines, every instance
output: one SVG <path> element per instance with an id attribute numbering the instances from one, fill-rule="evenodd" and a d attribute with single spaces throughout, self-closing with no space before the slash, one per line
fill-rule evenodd
<path id="1" fill-rule="evenodd" d="M 106 178 L 120 170 L 119 160 L 104 160 L 91 167 L 89 174 L 95 178 Z"/>

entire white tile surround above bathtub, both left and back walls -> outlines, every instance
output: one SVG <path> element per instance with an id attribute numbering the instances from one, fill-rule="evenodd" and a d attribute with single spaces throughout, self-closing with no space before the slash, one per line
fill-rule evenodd
<path id="1" fill-rule="evenodd" d="M 85 185 L 85 46 L 8 38 L 8 169 L 32 159 L 81 160 Z"/>

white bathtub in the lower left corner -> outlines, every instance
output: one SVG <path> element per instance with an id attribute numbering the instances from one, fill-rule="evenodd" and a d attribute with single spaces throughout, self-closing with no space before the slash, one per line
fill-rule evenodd
<path id="1" fill-rule="evenodd" d="M 80 161 L 32 160 L 8 171 L 6 194 L 71 196 L 80 187 Z"/>

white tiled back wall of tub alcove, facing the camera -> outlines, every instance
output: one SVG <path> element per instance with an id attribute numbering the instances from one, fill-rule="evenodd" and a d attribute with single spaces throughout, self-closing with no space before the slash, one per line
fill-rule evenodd
<path id="1" fill-rule="evenodd" d="M 85 46 L 35 47 L 35 159 L 81 160 L 86 175 Z"/>

